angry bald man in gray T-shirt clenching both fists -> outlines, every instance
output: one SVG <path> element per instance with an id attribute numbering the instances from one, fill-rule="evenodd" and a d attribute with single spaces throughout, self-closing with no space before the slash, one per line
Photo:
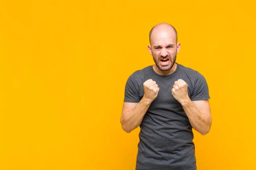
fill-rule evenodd
<path id="1" fill-rule="evenodd" d="M 176 62 L 173 26 L 154 26 L 149 40 L 155 65 L 128 78 L 120 119 L 127 133 L 140 126 L 136 170 L 196 170 L 192 128 L 205 135 L 212 124 L 206 79 Z"/>

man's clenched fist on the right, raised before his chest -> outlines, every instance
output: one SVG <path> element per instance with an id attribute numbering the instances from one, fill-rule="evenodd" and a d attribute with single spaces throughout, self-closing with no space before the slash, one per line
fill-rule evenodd
<path id="1" fill-rule="evenodd" d="M 183 79 L 178 79 L 174 82 L 172 95 L 180 103 L 189 98 L 188 85 Z"/>

